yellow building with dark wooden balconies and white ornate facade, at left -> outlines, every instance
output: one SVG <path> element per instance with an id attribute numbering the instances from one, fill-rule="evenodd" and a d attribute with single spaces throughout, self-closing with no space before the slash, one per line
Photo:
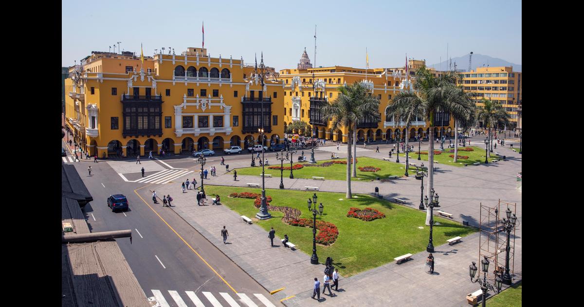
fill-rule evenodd
<path id="1" fill-rule="evenodd" d="M 263 100 L 265 144 L 279 143 L 284 84 L 266 80 L 262 88 L 253 70 L 241 57 L 211 57 L 202 48 L 144 63 L 130 52 L 93 51 L 69 68 L 67 125 L 99 158 L 243 148 L 258 140 Z"/>

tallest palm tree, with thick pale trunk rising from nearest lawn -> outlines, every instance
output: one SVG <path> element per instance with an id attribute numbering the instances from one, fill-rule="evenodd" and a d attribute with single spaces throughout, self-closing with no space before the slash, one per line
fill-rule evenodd
<path id="1" fill-rule="evenodd" d="M 414 91 L 399 92 L 394 98 L 392 108 L 420 109 L 423 118 L 430 122 L 429 129 L 429 149 L 428 149 L 428 185 L 427 194 L 434 186 L 434 115 L 436 112 L 449 112 L 454 118 L 463 118 L 471 112 L 468 104 L 461 103 L 458 96 L 459 90 L 456 87 L 456 80 L 460 80 L 460 73 L 449 71 L 439 78 L 434 77 L 425 66 L 416 71 L 416 82 L 413 85 Z M 430 209 L 426 211 L 426 225 L 430 225 Z"/>

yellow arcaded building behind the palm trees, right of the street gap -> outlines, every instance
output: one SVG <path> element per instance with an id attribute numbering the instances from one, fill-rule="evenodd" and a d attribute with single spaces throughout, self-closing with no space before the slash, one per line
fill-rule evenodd
<path id="1" fill-rule="evenodd" d="M 411 68 L 418 63 L 410 60 Z M 423 64 L 423 63 L 422 63 Z M 408 71 L 409 73 L 409 71 Z M 437 72 L 440 73 L 440 72 Z M 405 125 L 395 122 L 391 116 L 385 116 L 388 102 L 404 89 L 412 89 L 414 77 L 407 76 L 405 67 L 399 68 L 362 68 L 332 66 L 313 68 L 304 51 L 295 69 L 280 70 L 280 80 L 284 81 L 284 126 L 296 121 L 303 121 L 311 126 L 314 135 L 323 139 L 347 142 L 347 127 L 332 131 L 331 122 L 322 118 L 321 107 L 333 101 L 339 95 L 338 87 L 361 82 L 373 96 L 380 100 L 381 121 L 364 120 L 357 124 L 357 139 L 394 140 L 397 136 L 405 138 Z M 314 83 L 314 92 L 313 92 Z M 276 107 L 277 108 L 277 107 Z M 434 136 L 453 136 L 453 119 L 448 113 L 436 114 Z M 427 137 L 429 123 L 422 118 L 415 120 L 409 127 L 409 137 Z"/>

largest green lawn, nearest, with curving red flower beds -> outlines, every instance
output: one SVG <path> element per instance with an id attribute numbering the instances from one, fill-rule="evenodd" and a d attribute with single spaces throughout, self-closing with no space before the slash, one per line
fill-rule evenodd
<path id="1" fill-rule="evenodd" d="M 207 185 L 205 190 L 208 195 L 219 194 L 223 196 L 221 202 L 236 211 L 239 215 L 245 215 L 255 220 L 258 212 L 253 206 L 253 199 L 229 198 L 232 192 L 261 193 L 261 189 L 221 187 Z M 272 196 L 274 206 L 290 206 L 300 209 L 301 218 L 311 218 L 308 213 L 308 198 L 313 192 L 285 191 L 280 189 L 266 189 L 266 195 Z M 356 194 L 353 194 L 354 196 Z M 418 253 L 426 249 L 430 229 L 425 223 L 426 212 L 397 205 L 388 201 L 374 198 L 369 195 L 356 195 L 358 198 L 345 199 L 343 193 L 317 192 L 318 202 L 324 205 L 322 216 L 317 219 L 334 223 L 339 230 L 339 236 L 331 246 L 317 246 L 319 262 L 324 263 L 326 257 L 332 257 L 336 267 L 345 277 L 359 272 L 378 267 L 379 265 L 394 261 L 395 257 L 407 253 Z M 339 200 L 343 199 L 343 200 Z M 356 218 L 347 218 L 350 207 L 374 208 L 383 212 L 384 219 L 376 219 L 365 222 Z M 298 249 L 307 253 L 307 259 L 312 254 L 312 229 L 308 227 L 290 226 L 281 221 L 282 212 L 270 212 L 273 216 L 269 220 L 255 220 L 255 223 L 265 230 L 271 226 L 279 237 L 288 234 L 290 242 L 297 245 Z M 446 243 L 447 239 L 456 236 L 466 236 L 476 232 L 472 227 L 465 227 L 457 222 L 434 217 L 440 226 L 434 226 L 434 246 Z M 423 226 L 423 229 L 419 229 Z M 269 240 L 266 237 L 266 244 Z M 437 251 L 441 249 L 436 249 Z M 450 250 L 447 248 L 446 250 Z M 299 252 L 299 251 L 297 251 Z"/>

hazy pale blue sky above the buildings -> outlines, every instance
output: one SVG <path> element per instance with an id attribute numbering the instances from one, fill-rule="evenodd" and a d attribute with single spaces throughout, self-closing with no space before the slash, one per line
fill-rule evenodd
<path id="1" fill-rule="evenodd" d="M 318 66 L 397 67 L 405 54 L 439 63 L 474 53 L 522 64 L 521 1 L 62 1 L 63 66 L 91 51 L 151 56 L 154 49 L 205 47 L 211 56 L 244 57 L 263 51 L 266 65 L 296 68 L 306 47 Z M 117 51 L 117 44 L 116 44 Z"/>

